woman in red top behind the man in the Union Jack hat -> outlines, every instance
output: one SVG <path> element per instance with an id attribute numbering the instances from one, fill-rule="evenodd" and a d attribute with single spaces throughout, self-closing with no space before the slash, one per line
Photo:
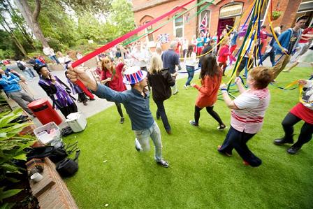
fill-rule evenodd
<path id="1" fill-rule="evenodd" d="M 122 58 L 123 59 L 123 58 Z M 124 59 L 123 59 L 124 60 Z M 117 92 L 124 92 L 126 90 L 126 86 L 123 83 L 123 71 L 124 71 L 124 62 L 120 62 L 115 66 L 112 63 L 111 59 L 105 57 L 101 60 L 102 71 L 101 71 L 101 84 L 107 85 L 111 89 Z M 117 112 L 121 119 L 119 120 L 120 124 L 124 123 L 124 115 L 121 103 L 115 102 L 115 106 L 117 108 Z"/>

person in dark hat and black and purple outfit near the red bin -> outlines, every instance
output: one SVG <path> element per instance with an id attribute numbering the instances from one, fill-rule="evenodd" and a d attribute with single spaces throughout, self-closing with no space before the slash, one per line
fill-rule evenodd
<path id="1" fill-rule="evenodd" d="M 52 75 L 45 64 L 35 64 L 34 70 L 40 77 L 38 84 L 52 100 L 53 107 L 61 110 L 64 117 L 78 112 L 73 96 L 71 96 L 71 89 L 64 82 Z"/>

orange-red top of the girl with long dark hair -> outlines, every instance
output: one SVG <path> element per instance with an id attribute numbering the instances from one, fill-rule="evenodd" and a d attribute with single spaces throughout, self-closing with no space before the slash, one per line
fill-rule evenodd
<path id="1" fill-rule="evenodd" d="M 222 74 L 223 73 L 219 68 L 218 75 L 214 75 L 213 77 L 205 75 L 204 79 L 201 80 L 201 87 L 198 85 L 194 86 L 199 91 L 196 99 L 196 106 L 198 108 L 213 106 L 217 101 L 217 93 L 219 92 L 219 85 L 221 85 Z"/>

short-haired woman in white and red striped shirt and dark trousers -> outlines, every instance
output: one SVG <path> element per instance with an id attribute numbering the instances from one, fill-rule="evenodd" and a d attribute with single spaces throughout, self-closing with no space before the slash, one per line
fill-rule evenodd
<path id="1" fill-rule="evenodd" d="M 272 80 L 270 69 L 256 67 L 252 69 L 247 78 L 249 89 L 242 86 L 239 78 L 235 79 L 239 92 L 236 99 L 231 100 L 227 94 L 226 85 L 221 85 L 221 94 L 228 108 L 231 108 L 231 128 L 219 146 L 218 151 L 231 156 L 233 149 L 240 154 L 246 165 L 260 166 L 262 161 L 247 147 L 247 142 L 263 125 L 265 110 L 270 103 L 268 84 Z"/>

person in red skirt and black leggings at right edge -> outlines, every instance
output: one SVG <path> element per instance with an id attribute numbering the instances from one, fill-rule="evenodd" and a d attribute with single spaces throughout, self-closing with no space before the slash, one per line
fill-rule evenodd
<path id="1" fill-rule="evenodd" d="M 301 147 L 312 139 L 313 134 L 313 80 L 298 80 L 298 83 L 300 88 L 303 88 L 300 102 L 290 110 L 282 121 L 284 137 L 274 140 L 275 145 L 293 143 L 293 126 L 303 120 L 304 124 L 301 127 L 298 141 L 289 147 L 287 150 L 289 154 L 297 154 Z"/>

